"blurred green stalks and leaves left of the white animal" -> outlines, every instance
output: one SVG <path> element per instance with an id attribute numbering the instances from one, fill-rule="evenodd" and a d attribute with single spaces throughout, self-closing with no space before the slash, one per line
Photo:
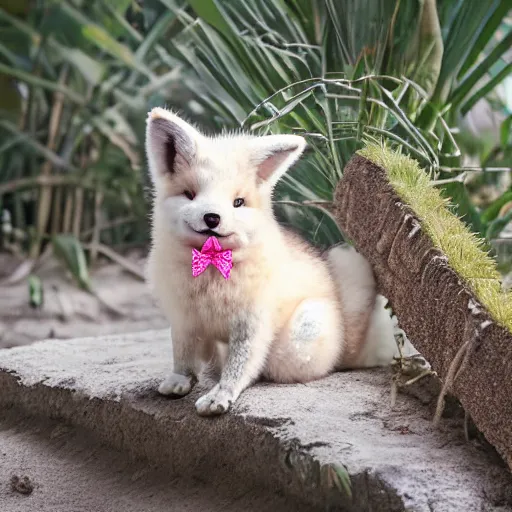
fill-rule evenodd
<path id="1" fill-rule="evenodd" d="M 131 0 L 0 2 L 0 243 L 27 271 L 50 241 L 94 259 L 147 240 L 145 115 L 186 102 L 159 43 L 174 19 Z"/>

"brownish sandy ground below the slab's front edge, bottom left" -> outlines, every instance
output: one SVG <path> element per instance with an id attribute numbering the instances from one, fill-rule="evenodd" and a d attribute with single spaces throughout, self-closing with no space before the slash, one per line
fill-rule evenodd
<path id="1" fill-rule="evenodd" d="M 0 421 L 2 512 L 306 512 L 261 489 L 240 492 L 204 479 L 170 478 L 89 434 L 8 413 Z"/>

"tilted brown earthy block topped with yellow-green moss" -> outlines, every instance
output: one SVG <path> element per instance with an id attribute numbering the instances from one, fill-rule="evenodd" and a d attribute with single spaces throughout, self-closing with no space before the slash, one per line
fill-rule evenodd
<path id="1" fill-rule="evenodd" d="M 512 295 L 417 162 L 370 145 L 335 192 L 401 327 L 512 468 Z"/>

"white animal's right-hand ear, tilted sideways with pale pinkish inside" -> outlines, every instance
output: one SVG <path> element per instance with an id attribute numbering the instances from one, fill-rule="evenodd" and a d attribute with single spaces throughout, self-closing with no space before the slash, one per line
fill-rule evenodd
<path id="1" fill-rule="evenodd" d="M 272 187 L 299 159 L 306 141 L 299 135 L 265 135 L 252 139 L 250 146 L 259 182 Z"/>

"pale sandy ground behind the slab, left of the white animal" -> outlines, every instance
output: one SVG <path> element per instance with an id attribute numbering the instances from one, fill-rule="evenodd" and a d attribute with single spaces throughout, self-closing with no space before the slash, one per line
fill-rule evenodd
<path id="1" fill-rule="evenodd" d="M 143 269 L 142 254 L 133 253 L 130 260 Z M 12 256 L 0 254 L 0 282 L 18 264 Z M 27 279 L 12 286 L 0 286 L 0 348 L 47 338 L 77 338 L 168 326 L 145 283 L 117 264 L 100 264 L 91 272 L 91 279 L 101 299 L 121 309 L 122 316 L 80 290 L 63 265 L 53 258 L 37 269 L 36 275 L 44 288 L 40 309 L 29 304 Z"/>

